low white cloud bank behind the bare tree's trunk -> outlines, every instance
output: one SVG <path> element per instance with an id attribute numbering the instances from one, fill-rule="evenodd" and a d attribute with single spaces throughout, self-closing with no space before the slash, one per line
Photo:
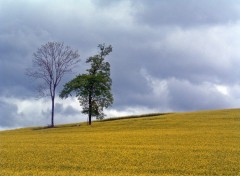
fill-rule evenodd
<path id="1" fill-rule="evenodd" d="M 14 102 L 18 101 L 18 103 Z M 51 110 L 50 100 L 43 101 L 27 99 L 11 99 L 6 98 L 0 100 L 0 130 L 7 128 L 18 128 L 26 126 L 44 126 L 50 124 Z M 42 103 L 43 103 L 42 102 Z M 49 104 L 49 108 L 46 104 Z M 55 105 L 55 123 L 73 123 L 85 120 L 85 116 L 81 115 L 80 110 L 76 110 L 71 106 L 63 106 L 61 103 Z"/>

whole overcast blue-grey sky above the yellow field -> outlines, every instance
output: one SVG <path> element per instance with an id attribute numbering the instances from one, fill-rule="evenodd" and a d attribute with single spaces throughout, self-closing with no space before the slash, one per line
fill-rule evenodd
<path id="1" fill-rule="evenodd" d="M 25 75 L 48 41 L 86 58 L 100 43 L 113 80 L 108 117 L 240 106 L 238 0 L 0 0 L 0 129 L 50 124 L 50 99 Z M 57 124 L 85 121 L 75 98 L 57 98 Z"/>

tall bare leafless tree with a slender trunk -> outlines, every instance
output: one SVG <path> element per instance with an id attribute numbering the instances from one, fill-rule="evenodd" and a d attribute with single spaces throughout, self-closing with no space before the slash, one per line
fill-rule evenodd
<path id="1" fill-rule="evenodd" d="M 48 42 L 33 53 L 33 66 L 27 69 L 26 74 L 41 80 L 42 84 L 37 87 L 40 97 L 51 97 L 51 127 L 54 127 L 56 88 L 63 76 L 72 72 L 73 66 L 80 61 L 79 57 L 77 50 L 60 42 Z"/>

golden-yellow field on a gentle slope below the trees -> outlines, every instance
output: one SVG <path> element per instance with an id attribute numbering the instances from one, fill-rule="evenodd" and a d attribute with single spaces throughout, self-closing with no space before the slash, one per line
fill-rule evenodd
<path id="1" fill-rule="evenodd" d="M 0 175 L 240 175 L 240 109 L 3 131 Z"/>

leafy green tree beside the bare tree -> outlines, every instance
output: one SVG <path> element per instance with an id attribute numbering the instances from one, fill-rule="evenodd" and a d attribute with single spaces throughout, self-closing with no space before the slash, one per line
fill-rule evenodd
<path id="1" fill-rule="evenodd" d="M 61 98 L 67 98 L 75 93 L 82 106 L 82 113 L 88 114 L 89 125 L 92 117 L 103 119 L 103 108 L 113 103 L 111 93 L 112 79 L 110 78 L 110 64 L 104 58 L 112 52 L 112 46 L 98 45 L 100 52 L 86 60 L 91 67 L 86 74 L 80 74 L 64 85 L 60 93 Z"/>

